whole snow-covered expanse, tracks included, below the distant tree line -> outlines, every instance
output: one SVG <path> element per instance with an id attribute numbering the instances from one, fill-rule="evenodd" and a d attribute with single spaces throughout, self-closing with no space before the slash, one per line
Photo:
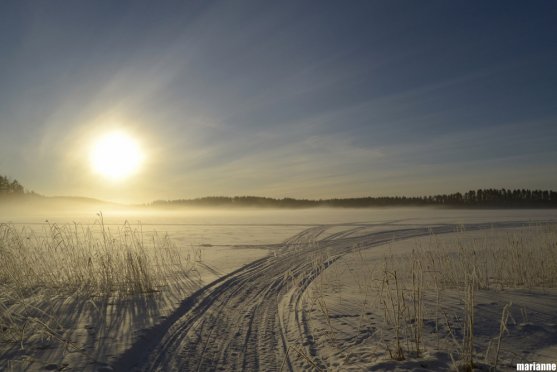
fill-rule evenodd
<path id="1" fill-rule="evenodd" d="M 25 299 L 5 300 L 4 334 L 12 331 L 9 314 L 17 313 L 26 314 L 33 332 L 24 327 L 21 337 L 0 339 L 0 370 L 423 370 L 462 366 L 469 350 L 483 368 L 495 359 L 498 368 L 509 369 L 518 361 L 557 362 L 555 283 L 510 285 L 494 277 L 485 288 L 478 274 L 472 282 L 455 279 L 435 288 L 428 270 L 422 285 L 404 281 L 412 277 L 412 250 L 435 246 L 458 262 L 466 244 L 504 248 L 509 234 L 527 246 L 545 244 L 543 235 L 553 256 L 539 265 L 555 264 L 555 228 L 531 227 L 557 221 L 554 210 L 140 209 L 103 215 L 109 228 L 141 221 L 145 234 L 168 233 L 178 249 L 194 250 L 195 280 L 143 295 L 87 297 L 37 288 Z M 12 214 L 0 222 L 40 234 L 46 218 L 88 225 L 96 217 Z M 535 265 L 527 257 L 516 262 Z M 472 304 L 464 300 L 470 283 Z"/>

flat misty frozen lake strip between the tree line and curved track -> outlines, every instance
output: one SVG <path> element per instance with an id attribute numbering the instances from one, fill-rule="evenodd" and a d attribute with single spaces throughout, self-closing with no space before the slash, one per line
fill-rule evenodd
<path id="1" fill-rule="evenodd" d="M 0 210 L 0 223 L 33 226 L 50 223 L 98 223 L 94 207 L 83 210 L 18 212 Z M 141 224 L 144 232 L 168 233 L 186 245 L 278 244 L 311 226 L 366 225 L 391 228 L 439 224 L 557 221 L 555 209 L 442 209 L 442 208 L 310 208 L 310 209 L 152 209 L 102 210 L 104 223 L 116 228 L 124 222 Z"/>

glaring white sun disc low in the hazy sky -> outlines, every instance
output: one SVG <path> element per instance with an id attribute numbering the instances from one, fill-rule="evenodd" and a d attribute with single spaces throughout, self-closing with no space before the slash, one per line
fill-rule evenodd
<path id="1" fill-rule="evenodd" d="M 95 172 L 117 181 L 139 170 L 143 153 L 132 137 L 123 132 L 113 132 L 93 144 L 90 161 Z"/>

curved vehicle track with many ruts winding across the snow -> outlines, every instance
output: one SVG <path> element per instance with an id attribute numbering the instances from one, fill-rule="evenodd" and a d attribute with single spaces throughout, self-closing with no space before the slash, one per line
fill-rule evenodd
<path id="1" fill-rule="evenodd" d="M 515 227 L 506 222 L 463 226 L 466 230 Z M 185 299 L 159 325 L 146 331 L 113 364 L 116 371 L 272 371 L 322 368 L 304 345 L 304 319 L 296 309 L 308 284 L 354 246 L 457 231 L 456 225 L 326 235 L 312 227 Z M 392 227 L 391 227 L 392 228 Z M 353 226 L 361 234 L 361 225 Z M 324 254 L 326 252 L 326 254 Z"/>

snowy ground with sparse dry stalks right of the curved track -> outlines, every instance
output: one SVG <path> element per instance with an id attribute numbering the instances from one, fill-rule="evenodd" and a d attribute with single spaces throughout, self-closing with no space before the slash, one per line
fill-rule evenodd
<path id="1" fill-rule="evenodd" d="M 557 271 L 556 227 L 461 231 L 357 247 L 304 291 L 296 311 L 306 326 L 291 344 L 321 369 L 463 369 L 467 301 L 472 300 L 476 368 L 516 370 L 518 362 L 555 363 L 557 275 L 551 273 Z M 544 251 L 536 256 L 525 248 L 530 245 Z M 471 255 L 463 258 L 465 252 Z M 522 253 L 525 257 L 502 256 Z M 446 273 L 443 263 L 435 268 L 433 262 L 442 257 L 481 260 L 473 298 L 467 298 L 465 278 L 460 278 L 463 283 L 457 278 L 466 267 L 473 272 L 472 264 L 451 264 Z M 513 267 L 512 260 L 521 267 Z M 497 277 L 498 263 L 513 271 Z M 545 278 L 545 283 L 528 282 L 534 278 Z M 307 365 L 303 358 L 298 363 Z"/>

